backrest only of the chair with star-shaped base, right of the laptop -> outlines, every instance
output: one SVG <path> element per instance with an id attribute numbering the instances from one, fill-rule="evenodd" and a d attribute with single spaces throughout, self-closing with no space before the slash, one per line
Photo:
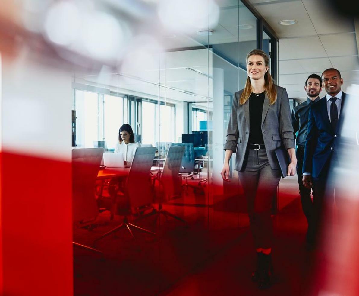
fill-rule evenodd
<path id="1" fill-rule="evenodd" d="M 153 201 L 150 172 L 156 150 L 156 147 L 139 147 L 136 149 L 126 181 L 126 194 L 132 212 L 151 205 Z"/>

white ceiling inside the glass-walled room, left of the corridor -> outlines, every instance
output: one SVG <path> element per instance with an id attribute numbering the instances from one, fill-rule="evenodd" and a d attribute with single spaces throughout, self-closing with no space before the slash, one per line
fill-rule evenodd
<path id="1" fill-rule="evenodd" d="M 147 60 L 142 60 L 143 52 L 137 49 L 132 52 L 135 59 L 125 58 L 118 71 L 104 69 L 100 74 L 77 73 L 77 81 L 101 87 L 110 87 L 120 92 L 156 99 L 160 95 L 168 101 L 196 102 L 198 105 L 207 106 L 212 101 L 211 89 L 208 82 L 212 79 L 211 53 L 205 46 L 209 43 L 213 49 L 221 52 L 223 56 L 237 63 L 245 59 L 249 49 L 256 44 L 256 18 L 249 10 L 241 5 L 238 9 L 238 0 L 218 1 L 220 8 L 218 24 L 211 29 L 212 36 L 200 36 L 196 32 L 182 34 L 176 32 L 163 32 L 159 29 L 157 41 L 159 47 L 166 53 L 158 55 L 147 51 Z M 240 21 L 238 21 L 238 19 Z M 252 28 L 240 29 L 241 24 L 249 24 Z M 205 28 L 204 28 L 205 29 Z M 238 55 L 238 40 L 243 44 L 243 52 Z M 143 51 L 146 50 L 145 42 L 141 43 Z M 143 55 L 142 55 L 143 56 Z M 229 77 L 224 80 L 224 90 L 233 94 L 238 90 L 237 68 L 217 55 L 215 57 L 219 67 L 224 69 L 224 75 Z M 152 63 L 148 60 L 152 60 Z M 242 70 L 241 70 L 242 71 Z"/>

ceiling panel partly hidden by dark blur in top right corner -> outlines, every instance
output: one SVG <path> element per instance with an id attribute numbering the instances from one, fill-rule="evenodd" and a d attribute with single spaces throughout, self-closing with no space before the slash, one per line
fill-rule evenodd
<path id="1" fill-rule="evenodd" d="M 343 5 L 345 1 L 343 1 Z M 309 17 L 318 34 L 353 32 L 353 19 L 339 17 L 331 10 L 330 2 L 323 0 L 303 0 Z"/>

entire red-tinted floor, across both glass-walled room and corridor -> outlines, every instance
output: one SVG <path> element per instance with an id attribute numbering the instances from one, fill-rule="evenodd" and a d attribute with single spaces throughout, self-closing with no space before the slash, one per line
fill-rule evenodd
<path id="1" fill-rule="evenodd" d="M 195 197 L 197 201 L 200 198 Z M 280 183 L 279 211 L 272 217 L 275 277 L 273 286 L 265 291 L 250 280 L 256 254 L 243 205 L 238 204 L 236 209 L 229 199 L 227 205 L 206 208 L 193 206 L 190 200 L 194 200 L 191 194 L 165 205 L 165 209 L 184 217 L 188 228 L 169 219 L 157 227 L 158 240 L 136 232 L 137 243 L 121 229 L 98 243 L 103 258 L 75 250 L 74 294 L 311 295 L 308 288 L 312 286 L 317 253 L 307 251 L 304 245 L 307 222 L 295 177 Z M 155 218 L 147 217 L 139 225 L 154 229 Z M 78 229 L 74 236 L 90 244 L 106 227 L 112 225 L 91 232 Z"/>

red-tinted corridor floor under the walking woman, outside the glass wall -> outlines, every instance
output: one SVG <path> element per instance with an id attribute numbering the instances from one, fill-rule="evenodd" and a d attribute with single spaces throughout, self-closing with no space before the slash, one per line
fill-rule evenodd
<path id="1" fill-rule="evenodd" d="M 251 282 L 255 262 L 250 232 L 208 260 L 162 295 L 310 295 L 306 290 L 314 267 L 314 252 L 305 250 L 306 220 L 299 198 L 285 206 L 274 218 L 274 284 L 259 290 Z"/>

